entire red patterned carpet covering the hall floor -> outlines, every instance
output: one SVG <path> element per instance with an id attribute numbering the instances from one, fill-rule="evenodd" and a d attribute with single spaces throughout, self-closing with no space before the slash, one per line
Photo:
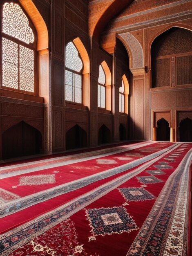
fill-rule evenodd
<path id="1" fill-rule="evenodd" d="M 190 256 L 191 143 L 0 167 L 2 256 Z"/>

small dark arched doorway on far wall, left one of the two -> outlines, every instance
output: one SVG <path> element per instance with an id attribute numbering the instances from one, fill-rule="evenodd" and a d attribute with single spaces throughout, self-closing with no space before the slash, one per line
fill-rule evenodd
<path id="1" fill-rule="evenodd" d="M 164 118 L 157 121 L 156 139 L 157 141 L 170 141 L 169 123 Z"/>

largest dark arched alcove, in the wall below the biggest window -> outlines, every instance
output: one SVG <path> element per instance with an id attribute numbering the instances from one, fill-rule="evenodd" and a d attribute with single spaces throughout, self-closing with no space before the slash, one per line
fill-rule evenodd
<path id="1" fill-rule="evenodd" d="M 42 150 L 40 132 L 21 121 L 10 127 L 2 134 L 2 158 L 36 155 Z"/>

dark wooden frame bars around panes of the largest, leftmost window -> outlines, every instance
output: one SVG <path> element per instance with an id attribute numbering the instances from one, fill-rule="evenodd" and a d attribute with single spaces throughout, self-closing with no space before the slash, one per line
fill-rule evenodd
<path id="1" fill-rule="evenodd" d="M 32 29 L 33 31 L 33 35 L 34 35 L 34 41 L 33 43 L 25 43 L 13 36 L 10 36 L 8 34 L 5 34 L 3 31 L 2 31 L 2 17 L 3 17 L 3 5 L 4 3 L 10 3 L 10 2 L 13 2 L 14 4 L 18 4 L 19 7 L 22 9 L 23 13 L 25 14 L 25 16 L 27 17 L 27 19 L 29 20 L 29 27 Z M 14 92 L 20 92 L 20 93 L 24 93 L 24 94 L 31 94 L 31 95 L 38 95 L 38 52 L 37 52 L 37 32 L 36 32 L 36 29 L 33 25 L 33 22 L 31 21 L 31 19 L 29 18 L 29 15 L 26 13 L 26 11 L 23 9 L 22 5 L 19 3 L 18 0 L 12 0 L 12 1 L 6 1 L 6 0 L 2 0 L 2 3 L 1 3 L 1 11 L 0 11 L 0 89 L 4 89 L 4 90 L 9 90 L 9 91 L 14 91 Z M 10 40 L 14 43 L 17 44 L 17 47 L 18 47 L 18 89 L 15 89 L 15 88 L 10 88 L 6 85 L 3 85 L 2 84 L 2 56 L 3 56 L 3 44 L 2 44 L 2 38 L 5 38 L 7 40 Z M 28 92 L 26 90 L 20 90 L 19 87 L 20 87 L 20 72 L 19 72 L 19 69 L 20 69 L 20 61 L 19 61 L 19 54 L 20 54 L 20 51 L 19 51 L 19 47 L 23 46 L 23 47 L 26 47 L 27 49 L 30 49 L 33 51 L 33 69 L 34 69 L 34 88 L 33 88 L 33 92 Z"/>

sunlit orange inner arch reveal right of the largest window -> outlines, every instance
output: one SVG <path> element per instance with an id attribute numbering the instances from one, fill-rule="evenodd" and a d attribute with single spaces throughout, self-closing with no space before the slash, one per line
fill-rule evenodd
<path id="1" fill-rule="evenodd" d="M 18 0 L 27 15 L 33 22 L 37 32 L 38 51 L 38 95 L 44 98 L 44 102 L 49 101 L 49 49 L 48 30 L 35 4 L 32 0 Z"/>

